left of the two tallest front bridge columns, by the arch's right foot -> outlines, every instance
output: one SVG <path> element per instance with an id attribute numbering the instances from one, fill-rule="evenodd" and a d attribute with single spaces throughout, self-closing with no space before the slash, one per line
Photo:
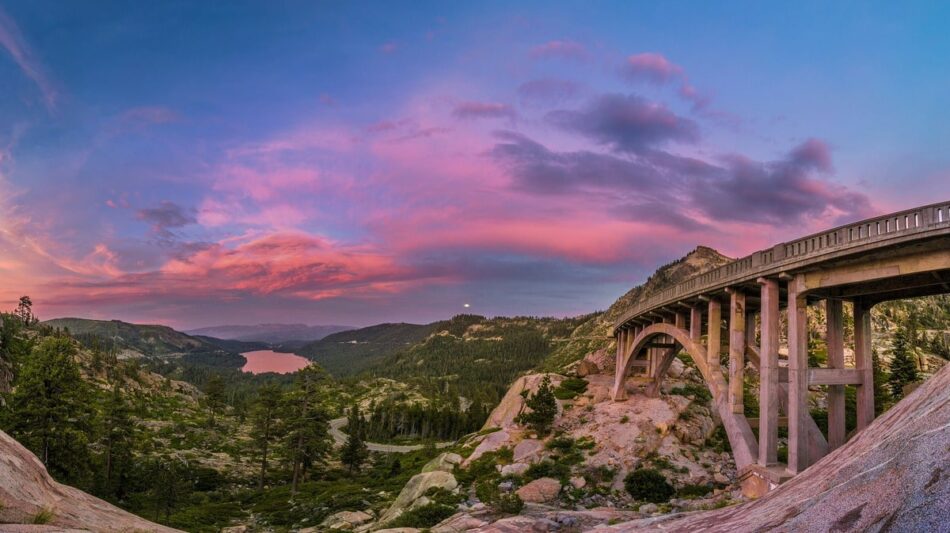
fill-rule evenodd
<path id="1" fill-rule="evenodd" d="M 759 338 L 759 464 L 778 463 L 778 339 L 779 292 L 774 279 L 759 278 L 762 285 L 762 329 Z"/>

